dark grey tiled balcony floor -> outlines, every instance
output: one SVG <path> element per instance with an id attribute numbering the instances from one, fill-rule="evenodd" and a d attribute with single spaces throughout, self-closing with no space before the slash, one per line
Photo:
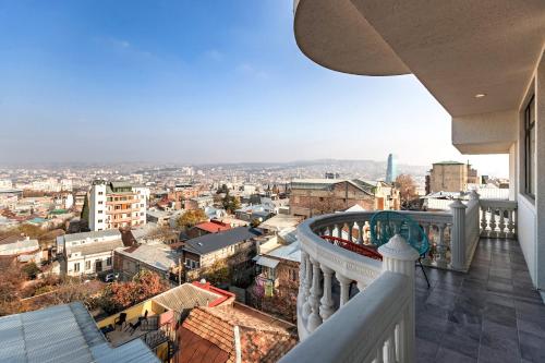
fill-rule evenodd
<path id="1" fill-rule="evenodd" d="M 545 362 L 545 305 L 514 240 L 482 239 L 468 274 L 416 279 L 417 362 Z"/>

